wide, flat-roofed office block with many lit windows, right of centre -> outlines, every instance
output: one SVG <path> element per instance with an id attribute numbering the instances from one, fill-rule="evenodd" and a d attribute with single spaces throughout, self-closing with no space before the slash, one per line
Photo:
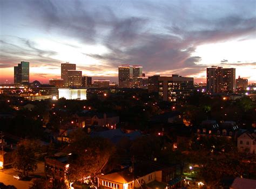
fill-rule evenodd
<path id="1" fill-rule="evenodd" d="M 159 99 L 177 102 L 193 93 L 194 78 L 185 78 L 174 74 L 156 78 L 158 79 Z"/>

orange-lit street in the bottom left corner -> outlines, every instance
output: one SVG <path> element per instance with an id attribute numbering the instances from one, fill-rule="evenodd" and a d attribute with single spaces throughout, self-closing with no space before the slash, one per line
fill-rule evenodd
<path id="1" fill-rule="evenodd" d="M 38 169 L 34 173 L 30 173 L 30 176 L 44 177 L 44 163 L 39 162 L 37 164 Z M 16 174 L 15 169 L 5 169 L 0 171 L 0 182 L 5 185 L 14 185 L 17 189 L 29 189 L 32 184 L 31 181 L 17 180 L 13 176 Z"/>

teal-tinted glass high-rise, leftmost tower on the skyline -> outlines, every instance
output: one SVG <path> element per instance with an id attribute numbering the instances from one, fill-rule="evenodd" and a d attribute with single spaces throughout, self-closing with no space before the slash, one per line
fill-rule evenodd
<path id="1" fill-rule="evenodd" d="M 29 62 L 21 61 L 18 66 L 14 67 L 14 83 L 22 85 L 29 84 Z"/>

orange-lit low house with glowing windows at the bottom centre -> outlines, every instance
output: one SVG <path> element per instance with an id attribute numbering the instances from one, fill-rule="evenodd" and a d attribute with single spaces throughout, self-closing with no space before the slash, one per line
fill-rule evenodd
<path id="1" fill-rule="evenodd" d="M 134 169 L 129 167 L 119 172 L 98 176 L 98 187 L 107 189 L 172 188 L 177 184 L 177 182 L 172 183 L 175 180 L 175 171 L 173 166 L 163 167 L 151 163 L 137 164 L 134 165 Z"/>

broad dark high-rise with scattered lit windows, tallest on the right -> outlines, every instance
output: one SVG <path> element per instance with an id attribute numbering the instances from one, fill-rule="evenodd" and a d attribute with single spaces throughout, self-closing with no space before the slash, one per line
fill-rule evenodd
<path id="1" fill-rule="evenodd" d="M 215 67 L 207 68 L 208 93 L 234 93 L 235 68 Z"/>

